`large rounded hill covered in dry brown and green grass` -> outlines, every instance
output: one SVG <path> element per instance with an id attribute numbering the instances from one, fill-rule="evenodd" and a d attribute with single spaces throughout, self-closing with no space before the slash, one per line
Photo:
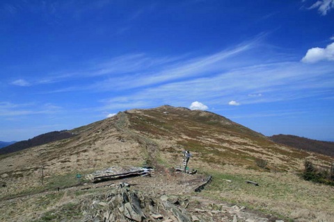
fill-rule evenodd
<path id="1" fill-rule="evenodd" d="M 151 189 L 159 187 L 159 194 L 182 192 L 187 187 L 186 178 L 194 179 L 187 176 L 173 182 L 166 169 L 180 166 L 182 151 L 187 149 L 192 154 L 189 167 L 198 169 L 199 176 L 214 176 L 212 184 L 200 194 L 201 198 L 214 203 L 227 201 L 246 205 L 248 209 L 295 221 L 331 221 L 329 219 L 334 218 L 331 212 L 334 199 L 328 198 L 333 194 L 333 187 L 303 181 L 299 176 L 305 158 L 328 167 L 333 162 L 332 157 L 276 144 L 212 112 L 168 105 L 127 110 L 69 132 L 76 136 L 0 155 L 0 182 L 5 185 L 0 189 L 3 200 L 0 214 L 8 215 L 4 213 L 10 206 L 10 215 L 15 219 L 22 220 L 29 212 L 40 212 L 29 214 L 29 219 L 38 221 L 38 218 L 45 218 L 43 216 L 62 215 L 62 209 L 70 204 L 76 215 L 72 221 L 76 221 L 81 214 L 81 200 L 87 198 L 90 191 L 78 188 L 67 191 L 66 196 L 55 194 L 55 199 L 45 196 L 45 200 L 40 199 L 39 193 L 77 185 L 77 173 L 86 174 L 112 166 L 152 165 L 162 176 L 157 173 L 144 182 L 127 180 L 137 184 L 134 189 L 150 193 Z M 266 164 L 259 164 L 261 160 Z M 259 182 L 260 186 L 247 185 L 246 180 Z M 99 194 L 96 190 L 93 192 L 95 196 Z M 27 194 L 33 195 L 30 198 Z M 198 194 L 187 191 L 182 195 Z M 19 198 L 13 199 L 15 196 L 24 196 L 26 203 L 31 205 L 24 206 Z M 34 200 L 38 205 L 33 204 Z M 45 201 L 43 207 L 41 201 Z M 23 206 L 26 210 L 19 210 Z M 71 221 L 69 212 L 64 215 Z M 3 216 L 0 219 L 10 221 L 12 218 Z"/>

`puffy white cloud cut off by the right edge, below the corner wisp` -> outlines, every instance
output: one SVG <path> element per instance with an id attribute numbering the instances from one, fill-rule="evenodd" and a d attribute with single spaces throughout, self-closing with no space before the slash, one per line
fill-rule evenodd
<path id="1" fill-rule="evenodd" d="M 328 44 L 324 49 L 319 47 L 308 49 L 306 55 L 301 59 L 302 62 L 306 63 L 314 63 L 321 60 L 334 61 L 334 42 Z"/>

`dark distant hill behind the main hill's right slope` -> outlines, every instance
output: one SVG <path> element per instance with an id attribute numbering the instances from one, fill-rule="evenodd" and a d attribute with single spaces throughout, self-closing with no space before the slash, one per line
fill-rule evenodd
<path id="1" fill-rule="evenodd" d="M 269 137 L 273 142 L 299 148 L 304 151 L 312 151 L 334 157 L 334 142 L 325 142 L 294 135 L 273 135 Z"/>

